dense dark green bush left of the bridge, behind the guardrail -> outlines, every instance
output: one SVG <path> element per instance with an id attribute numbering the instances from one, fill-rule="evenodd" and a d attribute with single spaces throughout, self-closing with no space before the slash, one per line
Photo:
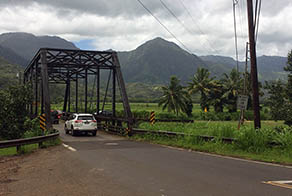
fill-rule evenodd
<path id="1" fill-rule="evenodd" d="M 28 118 L 26 105 L 31 102 L 31 88 L 24 85 L 10 86 L 0 90 L 0 138 L 23 137 Z"/>

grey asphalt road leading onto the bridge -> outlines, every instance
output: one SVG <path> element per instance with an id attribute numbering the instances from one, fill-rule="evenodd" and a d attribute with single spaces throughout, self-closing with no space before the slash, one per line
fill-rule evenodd
<path id="1" fill-rule="evenodd" d="M 291 184 L 264 183 L 291 181 L 292 167 L 135 142 L 102 132 L 96 137 L 72 137 L 65 135 L 62 124 L 56 128 L 72 159 L 102 173 L 112 186 L 123 187 L 125 195 L 292 195 Z"/>

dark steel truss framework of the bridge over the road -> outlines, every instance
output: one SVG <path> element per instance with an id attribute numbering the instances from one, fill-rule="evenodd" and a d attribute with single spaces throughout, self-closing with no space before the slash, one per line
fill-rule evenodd
<path id="1" fill-rule="evenodd" d="M 75 112 L 78 113 L 78 83 L 80 80 L 84 81 L 84 112 L 86 113 L 88 111 L 88 79 L 91 75 L 96 77 L 94 81 L 96 82 L 96 112 L 99 114 L 101 70 L 110 70 L 112 76 L 112 118 L 116 117 L 117 83 L 123 102 L 124 116 L 127 119 L 128 128 L 131 128 L 132 113 L 116 52 L 41 48 L 24 71 L 24 83 L 31 84 L 34 94 L 33 102 L 28 106 L 31 116 L 37 117 L 39 112 L 45 113 L 46 126 L 51 129 L 52 121 L 51 118 L 48 118 L 51 116 L 49 84 L 66 85 L 63 111 L 70 112 L 70 84 L 74 82 L 76 88 Z M 113 121 L 114 123 L 115 121 Z"/>

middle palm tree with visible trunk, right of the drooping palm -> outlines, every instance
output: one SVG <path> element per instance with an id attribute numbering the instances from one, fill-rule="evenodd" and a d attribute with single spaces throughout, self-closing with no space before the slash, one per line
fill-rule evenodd
<path id="1" fill-rule="evenodd" d="M 210 72 L 205 68 L 198 68 L 196 74 L 192 78 L 192 81 L 188 83 L 189 94 L 200 93 L 200 105 L 202 110 L 207 108 L 209 110 L 208 94 L 215 86 L 214 77 L 209 78 Z"/>

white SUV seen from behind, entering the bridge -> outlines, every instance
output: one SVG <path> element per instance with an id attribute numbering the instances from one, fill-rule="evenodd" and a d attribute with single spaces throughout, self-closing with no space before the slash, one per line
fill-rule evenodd
<path id="1" fill-rule="evenodd" d="M 91 133 L 96 136 L 97 123 L 92 114 L 72 114 L 65 122 L 65 133 L 71 132 L 72 136 L 80 133 Z"/>

